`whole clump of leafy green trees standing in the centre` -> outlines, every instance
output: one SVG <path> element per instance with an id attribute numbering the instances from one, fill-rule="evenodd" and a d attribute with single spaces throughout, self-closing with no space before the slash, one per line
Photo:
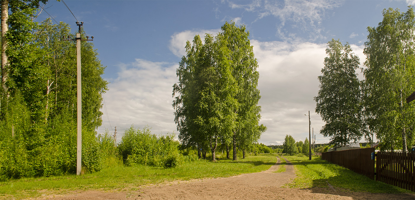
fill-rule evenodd
<path id="1" fill-rule="evenodd" d="M 244 26 L 226 22 L 216 36 L 206 34 L 204 43 L 198 35 L 193 44 L 187 41 L 186 53 L 173 85 L 179 140 L 198 149 L 207 143 L 212 155 L 218 139 L 225 145 L 233 140 L 236 157 L 237 142 L 240 148 L 249 148 L 266 130 L 258 125 L 258 64 L 249 33 Z"/>

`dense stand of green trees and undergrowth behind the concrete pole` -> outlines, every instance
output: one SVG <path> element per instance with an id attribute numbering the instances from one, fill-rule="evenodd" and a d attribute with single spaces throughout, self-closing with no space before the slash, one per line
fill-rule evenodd
<path id="1" fill-rule="evenodd" d="M 30 19 L 34 9 L 23 11 L 9 17 L 14 27 L 7 33 L 10 103 L 2 105 L 0 120 L 0 154 L 5 155 L 0 165 L 7 167 L 0 176 L 71 173 L 76 169 L 76 47 L 61 36 L 74 35 L 68 24 L 52 25 L 49 19 L 38 25 Z M 100 168 L 95 128 L 107 82 L 93 44 L 82 43 L 81 51 L 82 83 L 88 86 L 82 91 L 82 157 L 83 166 L 94 171 Z"/>

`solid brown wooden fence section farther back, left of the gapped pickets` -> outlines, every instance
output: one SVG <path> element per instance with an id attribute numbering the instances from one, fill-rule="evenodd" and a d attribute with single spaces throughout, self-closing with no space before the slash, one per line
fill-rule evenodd
<path id="1" fill-rule="evenodd" d="M 344 166 L 356 173 L 360 173 L 371 179 L 375 177 L 375 160 L 371 159 L 371 153 L 375 148 L 349 149 L 342 151 L 325 152 L 321 154 L 323 160 L 333 164 Z"/>

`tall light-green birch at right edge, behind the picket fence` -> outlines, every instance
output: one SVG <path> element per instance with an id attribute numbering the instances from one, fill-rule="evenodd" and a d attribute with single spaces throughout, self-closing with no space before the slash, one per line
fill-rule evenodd
<path id="1" fill-rule="evenodd" d="M 414 144 L 415 105 L 404 99 L 415 90 L 415 18 L 413 7 L 401 13 L 385 9 L 378 27 L 368 27 L 364 95 L 369 126 L 384 148 L 405 152 Z M 410 140 L 407 140 L 410 134 Z"/>

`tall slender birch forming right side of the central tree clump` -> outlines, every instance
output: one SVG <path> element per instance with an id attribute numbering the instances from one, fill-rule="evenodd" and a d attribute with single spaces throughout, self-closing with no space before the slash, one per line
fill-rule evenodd
<path id="1" fill-rule="evenodd" d="M 225 22 L 220 38 L 230 51 L 228 59 L 237 85 L 237 92 L 233 96 L 238 105 L 234 110 L 237 118 L 232 130 L 233 160 L 236 160 L 237 143 L 244 151 L 266 130 L 264 125 L 258 125 L 261 119 L 261 106 L 258 105 L 261 96 L 257 89 L 259 73 L 256 71 L 258 62 L 249 41 L 249 31 L 244 25 L 237 27 L 235 22 Z"/>

